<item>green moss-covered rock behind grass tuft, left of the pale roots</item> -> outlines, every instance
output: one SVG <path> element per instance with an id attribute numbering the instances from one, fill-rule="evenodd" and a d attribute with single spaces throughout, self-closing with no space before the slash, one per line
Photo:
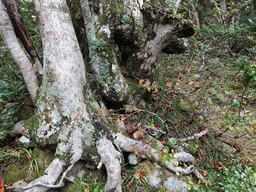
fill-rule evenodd
<path id="1" fill-rule="evenodd" d="M 35 148 L 33 150 L 33 154 L 35 155 L 38 164 L 39 174 L 42 174 L 54 159 L 54 152 L 48 149 L 43 151 L 41 149 Z M 25 158 L 19 165 L 19 168 L 14 163 L 9 164 L 6 170 L 3 172 L 3 178 L 5 182 L 17 182 L 23 179 L 25 182 L 34 180 L 36 178 L 36 172 L 35 169 L 29 169 L 29 163 L 30 162 L 28 158 Z"/>

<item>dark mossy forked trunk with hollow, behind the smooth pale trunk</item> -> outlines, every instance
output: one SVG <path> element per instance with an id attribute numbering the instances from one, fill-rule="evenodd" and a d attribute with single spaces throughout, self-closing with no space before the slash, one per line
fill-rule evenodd
<path id="1" fill-rule="evenodd" d="M 174 13 L 179 3 L 145 0 L 144 27 L 138 31 L 126 4 L 80 0 L 92 72 L 108 100 L 118 106 L 150 100 L 152 91 L 140 87 L 139 80 L 153 82 L 158 54 L 173 40 L 194 34 L 192 22 Z M 77 4 L 69 1 L 72 10 L 76 7 L 71 11 L 74 23 L 80 18 Z"/>

